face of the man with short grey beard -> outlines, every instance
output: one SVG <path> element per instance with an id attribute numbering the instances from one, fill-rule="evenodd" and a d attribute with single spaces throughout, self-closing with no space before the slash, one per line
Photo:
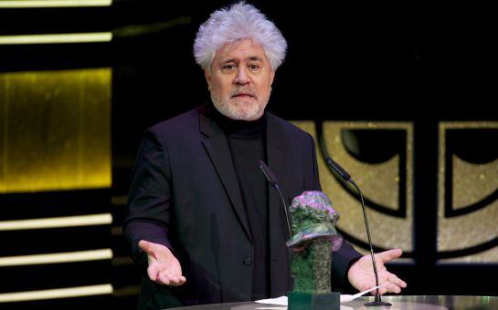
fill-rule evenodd
<path id="1" fill-rule="evenodd" d="M 270 99 L 275 72 L 263 47 L 245 39 L 217 50 L 205 70 L 216 109 L 230 119 L 260 119 Z"/>

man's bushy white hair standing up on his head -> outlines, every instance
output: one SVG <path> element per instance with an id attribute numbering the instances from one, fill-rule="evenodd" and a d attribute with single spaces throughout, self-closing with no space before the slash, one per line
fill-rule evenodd
<path id="1" fill-rule="evenodd" d="M 281 66 L 287 51 L 285 38 L 260 10 L 244 1 L 213 12 L 199 27 L 194 43 L 196 63 L 203 69 L 211 67 L 218 48 L 243 39 L 263 47 L 273 71 Z"/>

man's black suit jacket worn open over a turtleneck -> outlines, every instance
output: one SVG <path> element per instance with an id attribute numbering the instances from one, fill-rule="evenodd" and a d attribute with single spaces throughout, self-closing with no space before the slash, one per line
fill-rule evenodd
<path id="1" fill-rule="evenodd" d="M 287 201 L 319 191 L 313 138 L 267 112 L 267 159 Z M 269 185 L 270 186 L 270 185 Z M 270 290 L 285 294 L 292 280 L 287 226 L 278 193 L 269 189 Z M 206 107 L 147 129 L 132 178 L 124 232 L 143 271 L 140 240 L 161 243 L 178 257 L 186 284 L 153 284 L 146 274 L 139 308 L 249 301 L 253 245 L 225 134 Z M 360 256 L 347 243 L 334 254 L 333 284 L 344 284 Z"/>

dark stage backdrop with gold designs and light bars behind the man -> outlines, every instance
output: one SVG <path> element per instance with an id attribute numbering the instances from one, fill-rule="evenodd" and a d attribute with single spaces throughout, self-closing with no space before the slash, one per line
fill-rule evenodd
<path id="1" fill-rule="evenodd" d="M 133 308 L 141 274 L 122 220 L 138 144 L 144 129 L 207 102 L 192 46 L 197 27 L 230 2 L 7 3 L 0 306 Z M 376 251 L 405 251 L 390 266 L 407 280 L 404 294 L 496 295 L 491 10 L 251 3 L 289 44 L 268 109 L 317 141 L 344 236 L 366 251 L 360 206 L 327 154 L 365 192 Z"/>

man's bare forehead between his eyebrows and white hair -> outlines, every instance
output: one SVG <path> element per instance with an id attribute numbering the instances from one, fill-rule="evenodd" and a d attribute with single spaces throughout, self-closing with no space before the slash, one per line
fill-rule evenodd
<path id="1" fill-rule="evenodd" d="M 264 48 L 254 43 L 251 39 L 227 43 L 223 47 L 220 47 L 215 54 L 217 61 L 230 59 L 245 61 L 251 58 L 260 58 L 262 61 L 268 61 Z"/>

